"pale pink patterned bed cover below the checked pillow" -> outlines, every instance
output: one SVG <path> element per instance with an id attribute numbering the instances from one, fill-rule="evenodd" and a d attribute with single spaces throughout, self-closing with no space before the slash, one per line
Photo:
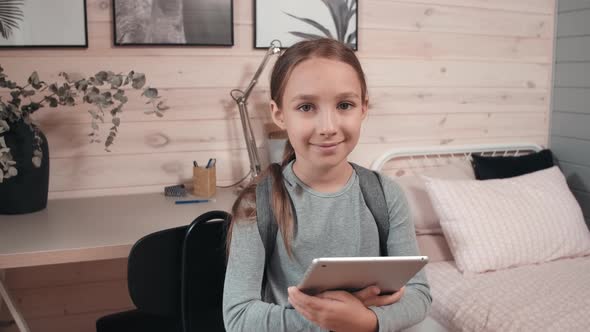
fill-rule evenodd
<path id="1" fill-rule="evenodd" d="M 590 331 L 590 256 L 482 274 L 426 266 L 430 316 L 451 331 Z"/>

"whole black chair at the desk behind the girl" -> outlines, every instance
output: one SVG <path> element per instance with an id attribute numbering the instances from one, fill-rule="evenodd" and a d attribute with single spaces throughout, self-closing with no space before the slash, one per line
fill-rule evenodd
<path id="1" fill-rule="evenodd" d="M 99 318 L 96 331 L 225 331 L 221 303 L 228 217 L 210 211 L 188 226 L 137 241 L 127 268 L 137 309 Z"/>

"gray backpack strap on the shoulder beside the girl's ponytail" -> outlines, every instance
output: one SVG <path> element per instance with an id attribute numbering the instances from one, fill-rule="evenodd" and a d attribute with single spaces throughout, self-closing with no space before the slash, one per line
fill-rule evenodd
<path id="1" fill-rule="evenodd" d="M 266 286 L 266 269 L 275 250 L 278 226 L 272 213 L 272 176 L 266 175 L 256 185 L 256 224 L 264 245 L 264 277 L 262 278 L 262 295 Z"/>

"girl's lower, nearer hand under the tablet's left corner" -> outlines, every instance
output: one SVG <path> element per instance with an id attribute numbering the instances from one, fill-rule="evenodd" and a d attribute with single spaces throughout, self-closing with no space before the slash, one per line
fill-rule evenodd
<path id="1" fill-rule="evenodd" d="M 377 331 L 377 316 L 346 291 L 307 295 L 289 287 L 289 302 L 314 324 L 331 331 Z"/>

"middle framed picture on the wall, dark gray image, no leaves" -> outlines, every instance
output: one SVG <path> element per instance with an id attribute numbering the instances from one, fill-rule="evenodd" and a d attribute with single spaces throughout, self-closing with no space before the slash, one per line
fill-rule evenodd
<path id="1" fill-rule="evenodd" d="M 232 0 L 113 0 L 115 45 L 234 44 Z"/>

